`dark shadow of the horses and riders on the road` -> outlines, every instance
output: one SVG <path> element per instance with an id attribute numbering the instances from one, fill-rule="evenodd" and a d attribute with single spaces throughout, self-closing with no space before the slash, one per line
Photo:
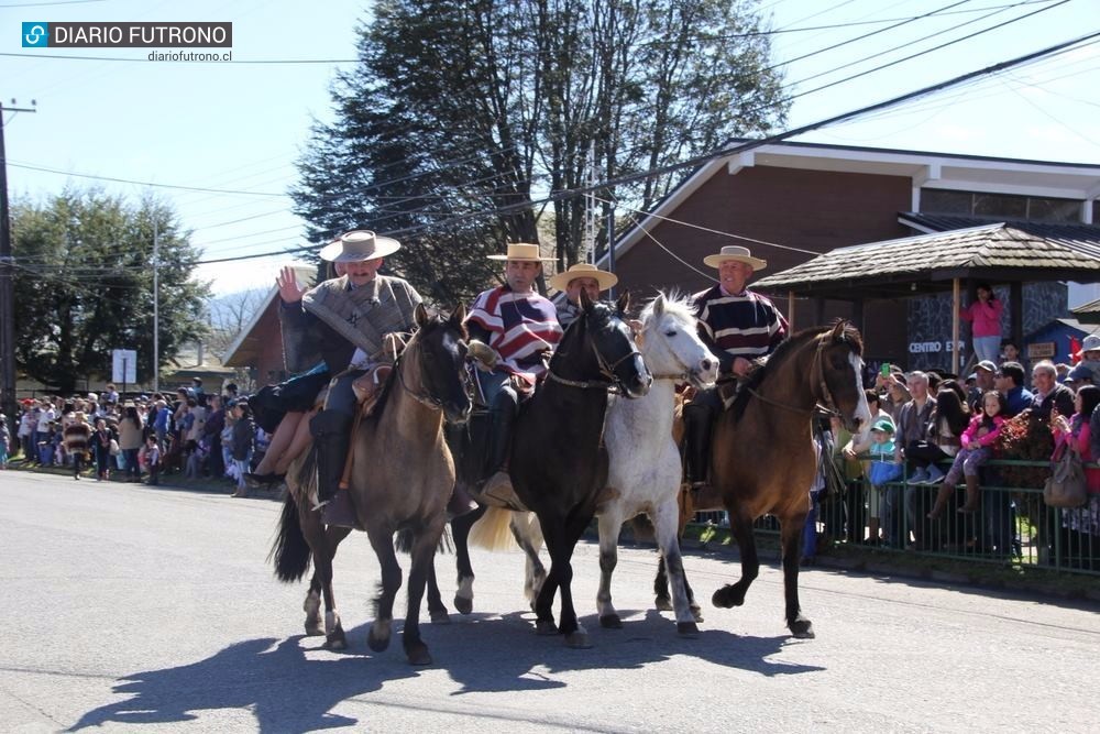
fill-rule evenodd
<path id="1" fill-rule="evenodd" d="M 565 648 L 559 636 L 536 635 L 530 614 L 475 614 L 455 617 L 449 626 L 427 624 L 421 632 L 436 659 L 433 667 L 448 671 L 461 687 L 453 695 L 563 688 L 566 683 L 553 673 L 632 670 L 674 655 L 768 677 L 823 669 L 769 660 L 791 644 L 787 636 L 750 638 L 706 629 L 696 639 L 683 639 L 674 623 L 656 611 L 640 617 L 637 612 L 622 614 L 623 629 L 601 629 L 595 617 L 582 620 L 594 648 L 581 650 Z M 200 711 L 226 709 L 250 710 L 261 732 L 363 725 L 366 722 L 330 711 L 342 701 L 378 691 L 385 682 L 419 675 L 405 661 L 399 624 L 395 627 L 393 644 L 381 654 L 367 650 L 367 625 L 362 625 L 349 631 L 348 653 L 317 650 L 321 638 L 261 637 L 190 665 L 135 672 L 113 689 L 129 698 L 89 711 L 67 731 L 185 722 L 198 719 Z"/>

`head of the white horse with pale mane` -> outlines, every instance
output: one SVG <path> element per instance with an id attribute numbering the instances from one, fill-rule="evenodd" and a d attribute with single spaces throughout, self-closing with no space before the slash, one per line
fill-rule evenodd
<path id="1" fill-rule="evenodd" d="M 639 343 L 654 379 L 686 380 L 695 387 L 708 387 L 718 379 L 718 358 L 698 338 L 688 298 L 660 293 L 649 302 L 641 311 Z"/>

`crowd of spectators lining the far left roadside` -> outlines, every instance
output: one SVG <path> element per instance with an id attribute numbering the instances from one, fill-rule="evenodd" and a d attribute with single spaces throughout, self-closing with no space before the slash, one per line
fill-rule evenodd
<path id="1" fill-rule="evenodd" d="M 156 485 L 163 473 L 179 472 L 224 479 L 243 494 L 244 474 L 267 440 L 237 385 L 211 394 L 199 377 L 174 393 L 120 396 L 108 384 L 101 393 L 25 398 L 20 410 L 11 426 L 0 419 L 0 468 L 16 459 L 25 467 L 67 467 L 77 480 L 94 471 L 99 481 Z"/>

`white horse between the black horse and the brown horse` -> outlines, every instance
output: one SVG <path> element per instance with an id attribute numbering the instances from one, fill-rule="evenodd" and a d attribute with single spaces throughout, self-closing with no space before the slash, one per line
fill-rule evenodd
<path id="1" fill-rule="evenodd" d="M 690 382 L 710 386 L 718 376 L 718 360 L 700 340 L 692 306 L 686 298 L 663 293 L 641 314 L 640 337 L 646 366 L 653 375 L 649 394 L 635 399 L 616 398 L 607 407 L 604 441 L 609 459 L 607 491 L 596 510 L 600 522 L 600 592 L 596 605 L 604 627 L 622 627 L 612 605 L 610 580 L 617 561 L 617 544 L 623 523 L 642 513 L 649 515 L 664 557 L 676 631 L 697 633 L 690 607 L 680 543 L 676 539 L 680 506 L 676 496 L 683 476 L 680 451 L 672 439 L 675 386 Z M 512 539 L 527 555 L 524 591 L 529 601 L 538 595 L 546 570 L 539 559 L 542 533 L 531 513 L 514 513 L 491 507 L 474 526 L 470 544 L 499 550 Z M 471 609 L 473 577 L 460 578 L 457 604 Z"/>

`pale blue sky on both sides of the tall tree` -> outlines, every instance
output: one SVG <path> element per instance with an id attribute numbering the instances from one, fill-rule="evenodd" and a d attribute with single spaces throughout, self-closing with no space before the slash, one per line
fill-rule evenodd
<path id="1" fill-rule="evenodd" d="M 790 127 L 944 80 L 1100 30 L 1100 1 L 1069 0 L 762 0 L 772 18 L 773 56 L 788 63 L 794 92 L 1042 11 L 856 80 L 795 99 Z M 888 29 L 902 19 L 925 20 Z M 1015 6 L 1008 8 L 1005 6 Z M 314 118 L 329 118 L 329 84 L 341 59 L 354 57 L 354 29 L 370 2 L 188 3 L 89 0 L 0 0 L 0 99 L 35 114 L 4 116 L 9 190 L 41 198 L 73 174 L 170 186 L 232 189 L 210 194 L 157 188 L 170 201 L 205 259 L 277 252 L 306 244 L 285 191 Z M 987 18 L 982 18 L 987 17 Z M 895 19 L 892 22 L 879 22 Z M 148 62 L 148 50 L 48 50 L 28 56 L 23 21 L 232 21 L 233 62 Z M 811 26 L 839 28 L 794 31 Z M 875 36 L 857 36 L 881 30 Z M 170 50 L 164 50 L 170 51 Z M 820 52 L 820 53 L 815 53 Z M 807 55 L 799 61 L 798 57 Z M 86 61 L 75 56 L 133 59 Z M 310 64 L 246 64 L 257 61 Z M 847 68 L 836 70 L 844 65 Z M 350 66 L 343 64 L 344 67 Z M 822 74 L 820 78 L 809 79 Z M 1100 44 L 799 140 L 1100 163 Z M 48 168 L 47 173 L 23 167 Z M 142 183 L 98 182 L 138 197 Z M 273 282 L 286 255 L 202 265 L 216 293 Z"/>

